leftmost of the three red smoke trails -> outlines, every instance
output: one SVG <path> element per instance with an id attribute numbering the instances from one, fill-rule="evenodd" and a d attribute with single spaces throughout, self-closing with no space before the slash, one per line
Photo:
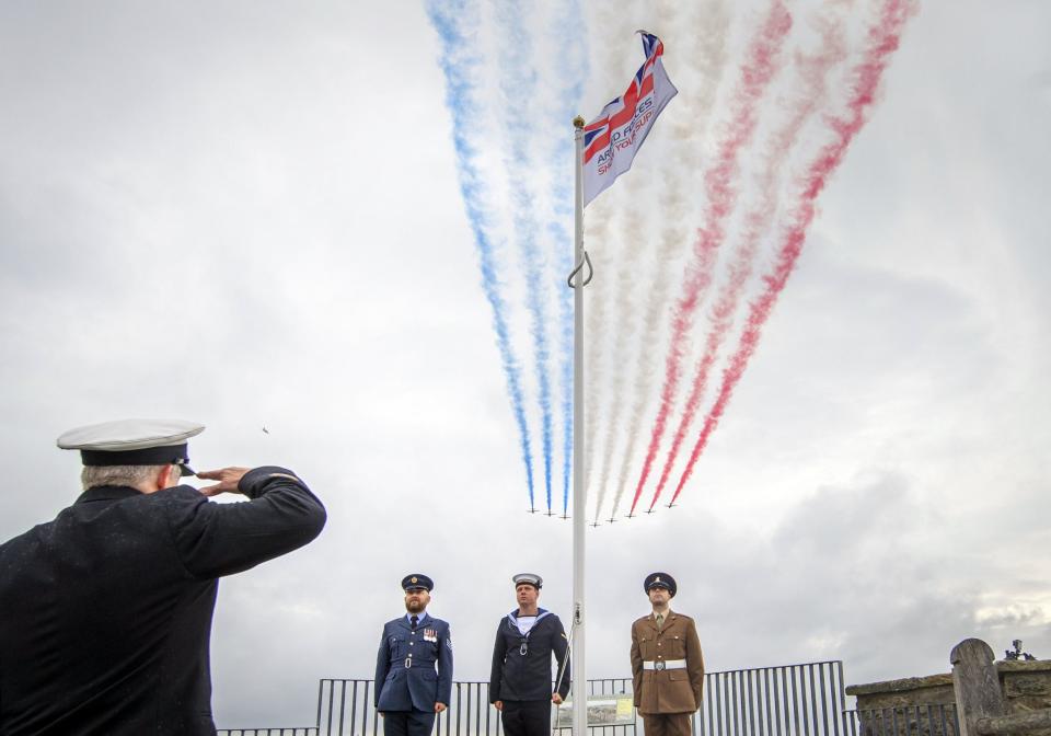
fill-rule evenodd
<path id="1" fill-rule="evenodd" d="M 646 462 L 643 465 L 638 485 L 635 487 L 628 516 L 635 513 L 638 497 L 643 494 L 643 486 L 649 478 L 657 448 L 663 437 L 668 414 L 675 399 L 675 390 L 679 388 L 682 356 L 686 349 L 686 336 L 693 324 L 693 314 L 712 283 L 712 263 L 725 235 L 724 222 L 737 203 L 737 188 L 732 185 L 732 180 L 737 175 L 737 153 L 751 139 L 755 130 L 757 107 L 777 71 L 777 56 L 790 30 L 792 15 L 783 0 L 774 0 L 762 28 L 748 50 L 748 61 L 741 68 L 740 89 L 734 96 L 737 110 L 730 123 L 729 133 L 719 146 L 716 165 L 705 174 L 705 194 L 708 203 L 705 211 L 706 226 L 697 233 L 697 241 L 693 245 L 696 263 L 686 274 L 683 295 L 675 306 L 671 348 L 668 352 L 665 386 L 660 394 L 660 410 L 654 424 L 649 449 L 646 451 Z"/>

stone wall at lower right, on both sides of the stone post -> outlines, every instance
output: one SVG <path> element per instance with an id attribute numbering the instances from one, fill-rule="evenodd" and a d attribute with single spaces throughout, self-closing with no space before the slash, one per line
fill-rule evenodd
<path id="1" fill-rule="evenodd" d="M 1051 708 L 1051 660 L 997 662 L 996 670 L 1008 713 Z M 846 694 L 857 698 L 863 736 L 896 731 L 921 736 L 956 736 L 951 675 L 852 685 L 846 688 Z M 1051 736 L 1051 729 L 1032 733 Z"/>

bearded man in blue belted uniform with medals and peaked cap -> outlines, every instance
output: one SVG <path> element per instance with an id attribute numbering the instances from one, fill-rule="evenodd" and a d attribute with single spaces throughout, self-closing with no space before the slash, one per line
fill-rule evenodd
<path id="1" fill-rule="evenodd" d="M 429 736 L 452 694 L 449 624 L 427 613 L 434 580 L 406 575 L 405 616 L 383 626 L 376 657 L 376 710 L 385 736 Z M 437 665 L 437 672 L 435 666 Z"/>

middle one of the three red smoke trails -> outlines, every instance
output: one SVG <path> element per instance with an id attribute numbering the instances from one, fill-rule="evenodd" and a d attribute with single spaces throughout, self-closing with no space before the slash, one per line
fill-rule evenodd
<path id="1" fill-rule="evenodd" d="M 741 292 L 752 275 L 752 263 L 755 258 L 755 252 L 759 250 L 760 240 L 777 212 L 777 180 L 781 169 L 788 158 L 802 125 L 824 99 L 825 76 L 845 56 L 842 31 L 838 22 L 823 19 L 821 35 L 823 37 L 821 53 L 813 57 L 799 55 L 796 58 L 796 65 L 799 67 L 804 80 L 804 89 L 794 102 L 788 122 L 782 126 L 771 141 L 766 166 L 759 182 L 759 188 L 762 193 L 760 204 L 746 216 L 742 244 L 730 265 L 729 280 L 719 292 L 718 300 L 712 310 L 712 326 L 708 331 L 704 356 L 697 363 L 690 398 L 686 400 L 685 411 L 679 422 L 679 427 L 675 429 L 671 449 L 668 450 L 665 469 L 660 473 L 660 481 L 657 483 L 654 498 L 649 503 L 650 509 L 657 505 L 661 491 L 668 484 L 668 478 L 671 475 L 672 465 L 678 459 L 679 449 L 686 439 L 686 433 L 690 432 L 690 425 L 693 424 L 693 417 L 701 406 L 702 398 L 704 398 L 704 391 L 708 383 L 708 372 L 715 364 L 727 333 L 734 325 L 734 315 L 741 300 Z"/>

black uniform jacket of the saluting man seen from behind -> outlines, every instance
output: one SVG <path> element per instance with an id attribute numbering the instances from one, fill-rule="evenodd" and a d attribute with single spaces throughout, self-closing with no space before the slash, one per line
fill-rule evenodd
<path id="1" fill-rule="evenodd" d="M 256 468 L 240 490 L 251 501 L 99 486 L 0 547 L 0 734 L 216 733 L 216 578 L 325 524 L 291 471 Z"/>

